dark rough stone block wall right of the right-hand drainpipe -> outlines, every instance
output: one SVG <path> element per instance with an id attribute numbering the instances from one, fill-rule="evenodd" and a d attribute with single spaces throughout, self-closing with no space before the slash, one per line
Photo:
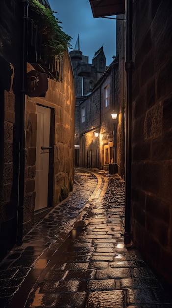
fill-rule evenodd
<path id="1" fill-rule="evenodd" d="M 172 2 L 133 1 L 132 233 L 172 284 Z"/>

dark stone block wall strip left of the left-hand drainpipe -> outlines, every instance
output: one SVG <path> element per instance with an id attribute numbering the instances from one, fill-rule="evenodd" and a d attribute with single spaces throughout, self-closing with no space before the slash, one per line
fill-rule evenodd
<path id="1" fill-rule="evenodd" d="M 0 258 L 15 244 L 17 233 L 21 91 L 18 4 L 17 0 L 0 3 Z"/>

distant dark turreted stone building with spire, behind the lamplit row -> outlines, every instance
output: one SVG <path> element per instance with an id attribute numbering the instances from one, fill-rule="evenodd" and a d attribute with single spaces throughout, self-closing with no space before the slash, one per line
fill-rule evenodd
<path id="1" fill-rule="evenodd" d="M 80 119 L 84 117 L 82 115 L 80 106 L 82 101 L 93 91 L 95 84 L 98 79 L 103 75 L 107 66 L 106 58 L 103 52 L 103 47 L 100 47 L 97 52 L 95 52 L 94 58 L 92 59 L 92 64 L 89 63 L 89 58 L 83 56 L 80 51 L 79 35 L 74 47 L 74 50 L 70 52 L 71 62 L 74 70 L 74 84 L 75 84 L 75 138 L 74 138 L 74 148 L 75 148 L 75 166 L 79 166 L 80 160 L 80 144 L 79 144 L 79 133 L 80 133 Z"/>

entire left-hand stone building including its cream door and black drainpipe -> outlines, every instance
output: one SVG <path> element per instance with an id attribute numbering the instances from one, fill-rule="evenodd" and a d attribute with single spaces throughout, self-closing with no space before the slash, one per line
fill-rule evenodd
<path id="1" fill-rule="evenodd" d="M 0 10 L 0 258 L 67 197 L 74 181 L 70 56 L 66 48 L 45 58 L 27 5 L 2 0 Z"/>

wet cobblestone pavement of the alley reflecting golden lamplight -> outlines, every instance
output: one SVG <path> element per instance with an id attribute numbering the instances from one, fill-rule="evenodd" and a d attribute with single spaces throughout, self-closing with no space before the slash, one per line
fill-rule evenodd
<path id="1" fill-rule="evenodd" d="M 124 182 L 77 168 L 74 191 L 0 263 L 0 308 L 172 308 L 123 244 Z"/>

